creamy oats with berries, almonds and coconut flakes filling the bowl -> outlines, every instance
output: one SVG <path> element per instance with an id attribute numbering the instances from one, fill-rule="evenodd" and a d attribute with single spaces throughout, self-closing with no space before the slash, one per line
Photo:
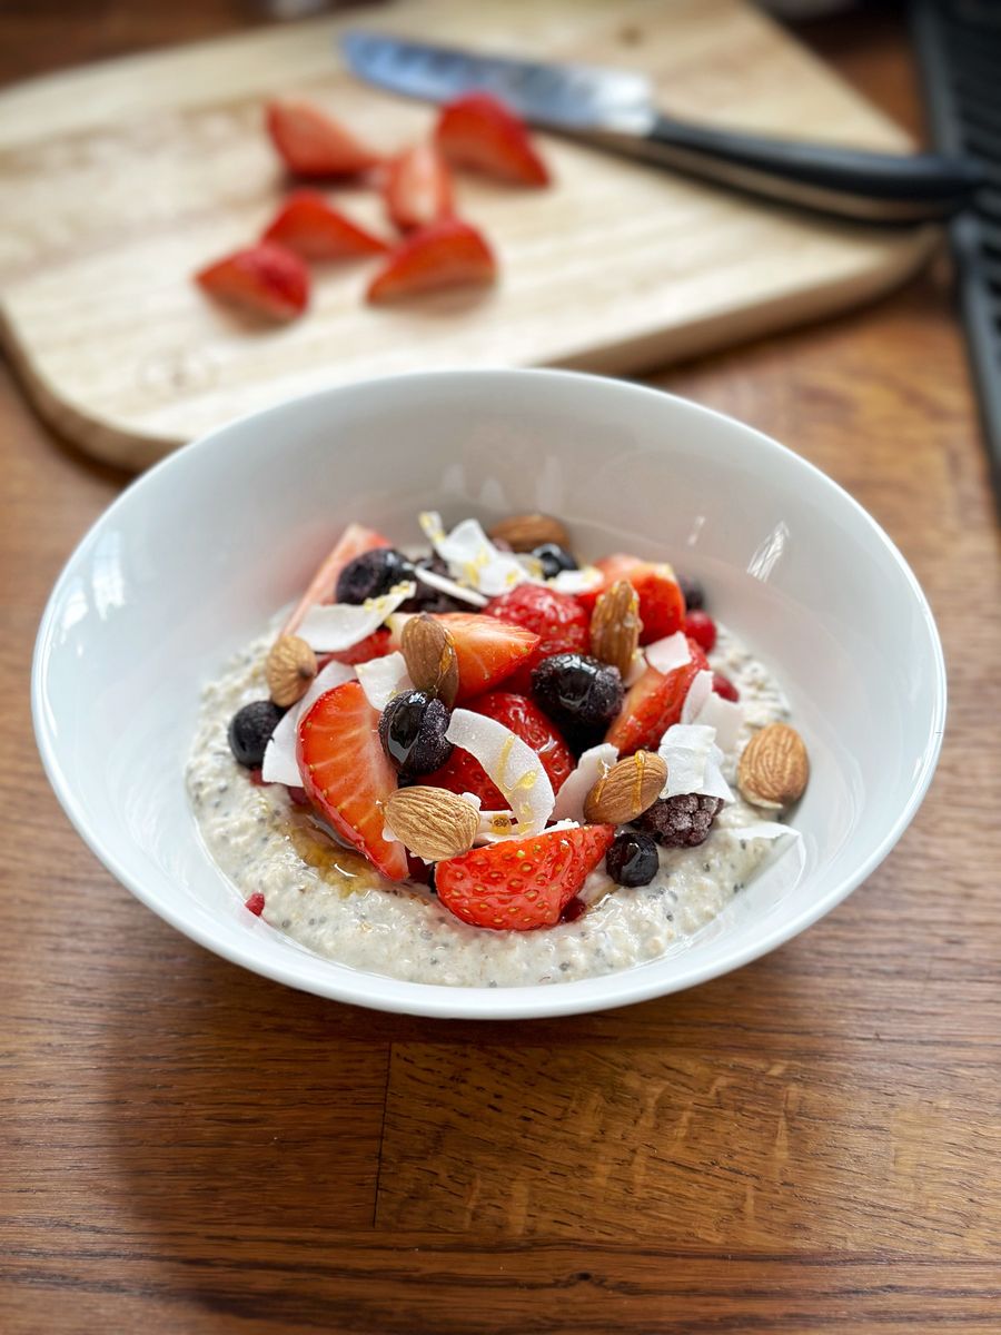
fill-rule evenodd
<path id="1" fill-rule="evenodd" d="M 187 768 L 251 913 L 415 983 L 654 960 L 797 838 L 807 757 L 767 669 L 671 566 L 579 563 L 549 515 L 351 525 L 206 688 Z"/>

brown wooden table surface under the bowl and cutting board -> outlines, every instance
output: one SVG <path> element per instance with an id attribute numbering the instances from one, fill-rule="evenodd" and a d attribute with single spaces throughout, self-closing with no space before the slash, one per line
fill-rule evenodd
<path id="1" fill-rule="evenodd" d="M 255 17 L 8 5 L 0 76 Z M 917 127 L 896 19 L 805 36 Z M 69 829 L 31 646 L 124 478 L 3 374 L 5 1335 L 1001 1330 L 1001 565 L 948 272 L 655 383 L 793 445 L 900 543 L 949 658 L 942 762 L 889 861 L 767 959 L 488 1027 L 243 973 Z"/>

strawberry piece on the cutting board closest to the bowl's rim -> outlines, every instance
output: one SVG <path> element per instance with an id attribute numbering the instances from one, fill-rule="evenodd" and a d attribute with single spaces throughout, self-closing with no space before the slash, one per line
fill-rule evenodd
<path id="1" fill-rule="evenodd" d="M 475 227 L 443 218 L 411 232 L 368 284 L 370 302 L 395 302 L 439 287 L 492 283 L 496 260 Z"/>

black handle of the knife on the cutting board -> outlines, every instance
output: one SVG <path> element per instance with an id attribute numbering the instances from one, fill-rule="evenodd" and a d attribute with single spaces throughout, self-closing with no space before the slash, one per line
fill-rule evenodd
<path id="1" fill-rule="evenodd" d="M 798 208 L 876 223 L 950 218 L 984 184 L 980 168 L 938 154 L 874 154 L 771 139 L 658 116 L 615 147 L 677 171 Z"/>

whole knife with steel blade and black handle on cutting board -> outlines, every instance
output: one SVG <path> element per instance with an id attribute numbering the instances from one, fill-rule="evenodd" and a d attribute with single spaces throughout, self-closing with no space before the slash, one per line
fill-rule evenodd
<path id="1" fill-rule="evenodd" d="M 542 129 L 837 218 L 944 219 L 984 184 L 965 158 L 876 154 L 675 120 L 654 105 L 649 79 L 625 69 L 478 55 L 378 32 L 348 32 L 342 49 L 352 72 L 380 88 L 434 103 L 491 92 Z"/>

